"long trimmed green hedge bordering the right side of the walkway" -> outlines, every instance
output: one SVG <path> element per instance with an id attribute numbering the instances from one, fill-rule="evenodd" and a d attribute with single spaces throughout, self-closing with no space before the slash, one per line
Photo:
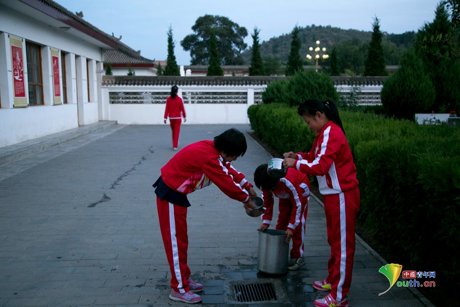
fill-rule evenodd
<path id="1" fill-rule="evenodd" d="M 295 108 L 254 105 L 248 116 L 278 153 L 311 149 L 314 133 Z M 340 117 L 357 168 L 358 222 L 382 256 L 460 285 L 460 129 L 345 110 Z"/>

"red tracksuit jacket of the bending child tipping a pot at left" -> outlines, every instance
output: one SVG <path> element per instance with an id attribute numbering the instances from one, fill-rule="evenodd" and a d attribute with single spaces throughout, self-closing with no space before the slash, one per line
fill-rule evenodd
<path id="1" fill-rule="evenodd" d="M 169 188 L 190 194 L 214 184 L 232 199 L 246 202 L 245 188 L 252 186 L 245 175 L 225 163 L 213 141 L 199 141 L 185 146 L 161 168 L 161 178 Z"/>

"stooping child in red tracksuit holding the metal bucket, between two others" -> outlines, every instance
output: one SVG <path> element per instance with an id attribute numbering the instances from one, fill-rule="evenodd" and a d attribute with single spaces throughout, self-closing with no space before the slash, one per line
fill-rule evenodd
<path id="1" fill-rule="evenodd" d="M 264 231 L 270 226 L 275 195 L 279 198 L 276 229 L 286 231 L 288 243 L 292 238 L 288 270 L 294 271 L 305 264 L 305 220 L 310 198 L 310 180 L 307 175 L 292 168 L 288 169 L 284 178 L 273 178 L 268 175 L 267 167 L 268 164 L 261 164 L 254 172 L 254 183 L 261 189 L 263 206 L 267 209 L 262 214 L 263 224 L 259 230 Z"/>

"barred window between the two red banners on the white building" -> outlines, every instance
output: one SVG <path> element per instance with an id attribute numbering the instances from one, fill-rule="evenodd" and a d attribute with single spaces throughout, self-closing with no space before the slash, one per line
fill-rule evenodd
<path id="1" fill-rule="evenodd" d="M 29 105 L 43 104 L 42 53 L 39 45 L 26 42 Z"/>

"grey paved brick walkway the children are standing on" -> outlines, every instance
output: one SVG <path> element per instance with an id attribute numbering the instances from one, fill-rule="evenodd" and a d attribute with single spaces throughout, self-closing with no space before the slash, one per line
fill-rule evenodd
<path id="1" fill-rule="evenodd" d="M 184 125 L 180 148 L 231 127 L 249 130 Z M 253 181 L 254 169 L 270 156 L 246 139 L 248 150 L 234 165 Z M 185 306 L 168 298 L 170 273 L 152 188 L 174 153 L 169 125 L 107 125 L 0 165 L 0 306 Z M 267 281 L 275 285 L 275 303 L 240 306 L 313 306 L 322 293 L 311 284 L 326 276 L 330 255 L 317 199 L 310 198 L 308 210 L 307 263 L 281 277 L 256 270 L 260 219 L 248 217 L 214 185 L 189 199 L 188 257 L 192 278 L 205 285 L 201 305 L 236 306 L 232 285 Z M 379 296 L 389 286 L 378 272 L 384 264 L 358 241 L 350 306 L 432 306 L 396 286 Z"/>

